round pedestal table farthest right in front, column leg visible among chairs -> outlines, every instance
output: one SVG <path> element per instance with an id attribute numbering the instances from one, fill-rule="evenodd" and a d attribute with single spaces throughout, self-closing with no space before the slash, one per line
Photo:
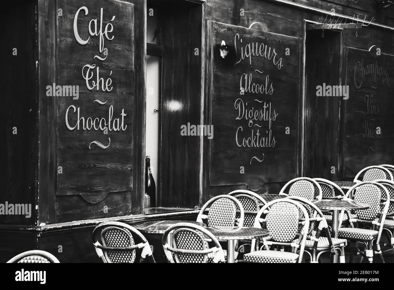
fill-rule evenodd
<path id="1" fill-rule="evenodd" d="M 339 212 L 342 210 L 366 210 L 370 206 L 369 204 L 362 202 L 355 202 L 351 199 L 322 199 L 314 201 L 314 204 L 320 210 L 331 210 L 333 211 L 333 225 L 331 236 L 333 238 L 338 238 L 338 228 L 339 228 Z M 333 256 L 332 262 L 336 263 L 338 256 Z"/>

